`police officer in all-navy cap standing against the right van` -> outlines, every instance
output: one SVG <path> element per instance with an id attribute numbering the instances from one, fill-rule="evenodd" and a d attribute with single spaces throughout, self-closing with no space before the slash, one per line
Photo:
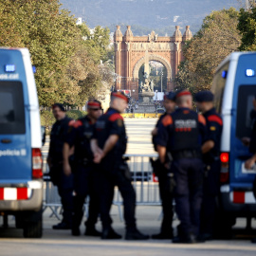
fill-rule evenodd
<path id="1" fill-rule="evenodd" d="M 213 94 L 210 91 L 201 91 L 195 95 L 195 103 L 207 121 L 208 140 L 202 146 L 205 176 L 203 187 L 203 201 L 201 209 L 200 238 L 210 240 L 213 235 L 216 213 L 216 196 L 220 184 L 220 139 L 223 122 L 213 107 Z"/>

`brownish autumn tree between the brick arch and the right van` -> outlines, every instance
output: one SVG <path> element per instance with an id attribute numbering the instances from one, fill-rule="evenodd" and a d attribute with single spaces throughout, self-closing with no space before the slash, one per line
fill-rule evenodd
<path id="1" fill-rule="evenodd" d="M 177 88 L 189 88 L 192 93 L 210 89 L 215 68 L 240 46 L 238 15 L 230 8 L 213 11 L 204 19 L 201 29 L 183 47 L 185 61 L 175 79 Z"/>

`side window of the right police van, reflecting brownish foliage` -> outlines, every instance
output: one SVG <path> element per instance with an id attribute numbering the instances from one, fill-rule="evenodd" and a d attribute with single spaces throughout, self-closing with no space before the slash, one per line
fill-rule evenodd
<path id="1" fill-rule="evenodd" d="M 214 106 L 217 113 L 221 114 L 223 93 L 227 79 L 223 78 L 223 71 L 229 71 L 229 63 L 224 64 L 214 75 L 211 91 L 214 94 Z"/>

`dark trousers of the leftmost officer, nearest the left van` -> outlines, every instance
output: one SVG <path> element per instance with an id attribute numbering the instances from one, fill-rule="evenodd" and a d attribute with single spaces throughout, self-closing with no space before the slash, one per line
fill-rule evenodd
<path id="1" fill-rule="evenodd" d="M 73 175 L 66 176 L 63 164 L 55 164 L 50 170 L 50 176 L 54 185 L 57 186 L 63 205 L 63 221 L 67 225 L 72 224 L 73 212 Z"/>

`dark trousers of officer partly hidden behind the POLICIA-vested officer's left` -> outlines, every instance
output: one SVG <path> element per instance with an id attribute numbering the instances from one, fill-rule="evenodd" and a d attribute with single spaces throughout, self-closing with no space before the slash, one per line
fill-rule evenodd
<path id="1" fill-rule="evenodd" d="M 159 170 L 157 173 L 158 183 L 159 183 L 159 192 L 162 201 L 162 210 L 163 210 L 163 220 L 161 224 L 161 233 L 173 234 L 173 192 L 170 192 L 168 186 L 169 177 L 165 170 Z"/>

